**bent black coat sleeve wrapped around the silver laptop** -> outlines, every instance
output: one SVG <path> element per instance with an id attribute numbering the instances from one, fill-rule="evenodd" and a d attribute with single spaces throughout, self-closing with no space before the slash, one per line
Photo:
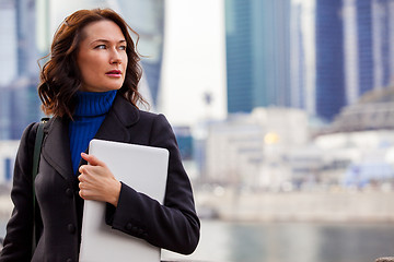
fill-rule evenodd
<path id="1" fill-rule="evenodd" d="M 197 247 L 200 223 L 175 135 L 163 115 L 153 121 L 150 145 L 170 152 L 164 205 L 123 183 L 118 205 L 107 223 L 153 246 L 189 254 Z"/>

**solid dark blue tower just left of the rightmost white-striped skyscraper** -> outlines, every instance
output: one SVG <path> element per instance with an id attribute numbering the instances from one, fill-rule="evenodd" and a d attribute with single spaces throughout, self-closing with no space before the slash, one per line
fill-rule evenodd
<path id="1" fill-rule="evenodd" d="M 316 1 L 316 115 L 331 121 L 345 106 L 341 0 Z"/>

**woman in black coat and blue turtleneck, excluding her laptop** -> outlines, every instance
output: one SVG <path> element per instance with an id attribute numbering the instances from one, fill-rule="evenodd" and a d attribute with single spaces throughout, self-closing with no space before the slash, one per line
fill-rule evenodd
<path id="1" fill-rule="evenodd" d="M 195 250 L 199 219 L 190 182 L 164 116 L 137 108 L 143 102 L 138 92 L 141 70 L 128 31 L 132 32 L 114 11 L 97 9 L 77 11 L 55 34 L 38 87 L 43 109 L 53 118 L 44 128 L 34 181 L 39 207 L 37 248 L 32 254 L 32 159 L 37 130 L 37 123 L 32 123 L 15 160 L 14 210 L 0 261 L 78 261 L 83 200 L 106 202 L 106 223 L 114 229 L 175 252 Z M 117 181 L 93 155 L 81 154 L 93 138 L 167 148 L 164 204 Z"/>

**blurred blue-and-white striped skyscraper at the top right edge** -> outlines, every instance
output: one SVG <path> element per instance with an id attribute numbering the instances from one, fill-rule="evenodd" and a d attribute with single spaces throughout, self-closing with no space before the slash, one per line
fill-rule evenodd
<path id="1" fill-rule="evenodd" d="M 345 0 L 347 104 L 368 91 L 393 84 L 394 1 Z"/>

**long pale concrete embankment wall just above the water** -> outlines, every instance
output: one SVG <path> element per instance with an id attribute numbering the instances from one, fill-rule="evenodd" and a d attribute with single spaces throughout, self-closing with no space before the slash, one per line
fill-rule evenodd
<path id="1" fill-rule="evenodd" d="M 394 222 L 394 192 L 197 192 L 197 213 L 243 222 Z M 391 255 L 391 254 L 390 254 Z M 393 253 L 394 255 L 394 253 Z"/>

